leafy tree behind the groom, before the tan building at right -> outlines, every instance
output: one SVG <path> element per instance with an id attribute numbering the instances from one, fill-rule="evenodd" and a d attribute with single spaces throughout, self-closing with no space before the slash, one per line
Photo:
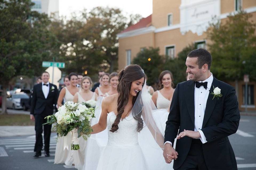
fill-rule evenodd
<path id="1" fill-rule="evenodd" d="M 211 23 L 207 30 L 208 46 L 213 57 L 211 71 L 220 80 L 235 80 L 236 88 L 243 74 L 249 73 L 256 78 L 256 24 L 251 17 L 251 14 L 240 10 L 222 23 Z"/>

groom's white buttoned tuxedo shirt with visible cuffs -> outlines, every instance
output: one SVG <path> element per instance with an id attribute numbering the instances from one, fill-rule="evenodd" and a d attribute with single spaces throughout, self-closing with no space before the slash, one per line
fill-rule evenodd
<path id="1" fill-rule="evenodd" d="M 195 129 L 194 131 L 198 131 L 201 135 L 199 138 L 202 143 L 206 143 L 206 137 L 203 134 L 202 126 L 203 126 L 203 117 L 205 116 L 205 108 L 207 99 L 210 93 L 211 84 L 213 83 L 213 74 L 211 73 L 210 77 L 207 78 L 204 81 L 200 82 L 207 82 L 207 89 L 203 86 L 200 86 L 200 88 L 195 87 Z M 203 100 L 202 100 L 203 99 Z M 172 143 L 170 141 L 166 141 L 166 143 Z"/>

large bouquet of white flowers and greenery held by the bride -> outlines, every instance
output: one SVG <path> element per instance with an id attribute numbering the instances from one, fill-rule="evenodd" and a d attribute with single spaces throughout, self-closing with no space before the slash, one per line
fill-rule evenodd
<path id="1" fill-rule="evenodd" d="M 67 101 L 63 106 L 59 107 L 55 115 L 45 117 L 47 118 L 47 123 L 43 125 L 56 123 L 53 125 L 53 130 L 58 133 L 58 138 L 66 137 L 71 131 L 71 150 L 78 150 L 80 148 L 78 138 L 81 134 L 85 140 L 90 137 L 92 132 L 90 120 L 95 117 L 94 110 L 92 107 L 87 108 L 85 105 Z"/>

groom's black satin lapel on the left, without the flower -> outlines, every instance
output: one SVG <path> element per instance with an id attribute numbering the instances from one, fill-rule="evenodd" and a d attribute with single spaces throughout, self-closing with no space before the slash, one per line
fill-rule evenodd
<path id="1" fill-rule="evenodd" d="M 195 124 L 195 82 L 187 81 L 185 86 L 185 101 L 187 105 L 187 110 L 189 112 L 190 118 Z"/>

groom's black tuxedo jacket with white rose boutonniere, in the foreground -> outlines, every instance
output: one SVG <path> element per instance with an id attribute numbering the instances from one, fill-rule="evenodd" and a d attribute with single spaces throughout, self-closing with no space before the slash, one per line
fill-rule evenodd
<path id="1" fill-rule="evenodd" d="M 213 99 L 211 94 L 213 86 L 221 89 L 223 96 L 219 99 L 216 97 Z M 178 130 L 179 133 L 184 129 L 194 131 L 194 88 L 195 82 L 191 80 L 177 84 L 166 122 L 165 142 L 170 141 L 174 144 Z M 207 140 L 202 148 L 205 163 L 209 170 L 237 169 L 234 151 L 228 136 L 236 133 L 239 120 L 240 113 L 234 87 L 213 78 L 201 129 Z M 174 169 L 179 168 L 184 162 L 191 141 L 192 138 L 187 136 L 177 139 L 175 150 L 179 155 L 177 160 L 174 161 Z"/>

